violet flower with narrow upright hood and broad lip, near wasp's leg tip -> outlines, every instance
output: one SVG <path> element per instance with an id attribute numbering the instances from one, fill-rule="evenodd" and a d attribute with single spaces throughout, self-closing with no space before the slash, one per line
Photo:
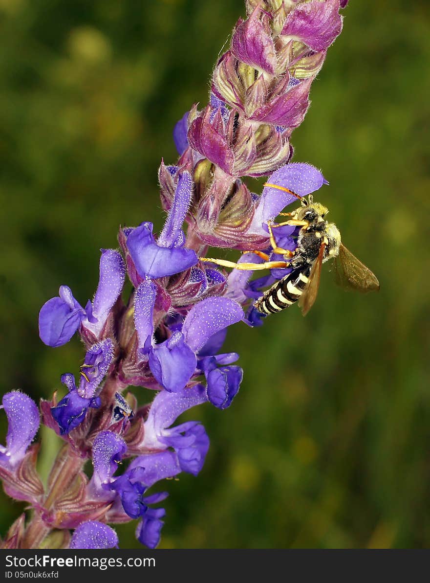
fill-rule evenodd
<path id="1" fill-rule="evenodd" d="M 172 207 L 157 242 L 152 233 L 152 223 L 142 223 L 128 235 L 127 247 L 142 278 L 174 275 L 198 262 L 195 251 L 184 248 L 185 235 L 182 231 L 192 187 L 191 174 L 184 172 L 179 178 Z"/>

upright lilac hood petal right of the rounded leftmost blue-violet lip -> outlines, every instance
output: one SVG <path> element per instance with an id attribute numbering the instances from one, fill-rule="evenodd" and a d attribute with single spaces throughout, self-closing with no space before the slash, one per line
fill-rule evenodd
<path id="1" fill-rule="evenodd" d="M 100 279 L 93 300 L 93 317 L 95 324 L 84 322 L 97 336 L 103 328 L 112 306 L 118 300 L 124 286 L 125 263 L 121 254 L 113 249 L 102 249 L 100 257 Z"/>

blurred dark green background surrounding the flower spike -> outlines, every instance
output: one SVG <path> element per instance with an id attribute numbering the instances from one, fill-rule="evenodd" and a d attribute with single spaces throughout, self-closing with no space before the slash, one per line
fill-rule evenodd
<path id="1" fill-rule="evenodd" d="M 119 223 L 162 224 L 161 156 L 175 161 L 172 127 L 206 102 L 244 7 L 0 0 L 0 13 L 1 390 L 48 398 L 82 349 L 40 342 L 40 306 L 63 283 L 92 296 Z M 212 445 L 198 477 L 168 484 L 162 547 L 430 546 L 429 5 L 353 0 L 344 14 L 294 160 L 323 169 L 320 199 L 380 293 L 344 293 L 325 269 L 308 317 L 235 327 L 241 392 L 192 410 Z M 57 444 L 42 437 L 45 471 Z M 0 508 L 3 535 L 23 504 L 2 493 Z M 122 547 L 139 547 L 134 528 L 118 527 Z"/>

